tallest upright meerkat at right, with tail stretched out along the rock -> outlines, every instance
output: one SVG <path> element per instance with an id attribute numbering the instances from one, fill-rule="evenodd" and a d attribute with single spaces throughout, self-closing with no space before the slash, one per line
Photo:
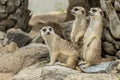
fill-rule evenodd
<path id="1" fill-rule="evenodd" d="M 84 67 L 89 67 L 100 62 L 111 61 L 111 58 L 101 57 L 101 35 L 103 12 L 100 8 L 91 8 L 89 11 L 90 24 L 83 38 Z"/>

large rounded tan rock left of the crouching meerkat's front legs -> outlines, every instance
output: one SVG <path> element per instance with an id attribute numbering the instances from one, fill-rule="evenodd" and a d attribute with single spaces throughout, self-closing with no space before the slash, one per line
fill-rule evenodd
<path id="1" fill-rule="evenodd" d="M 0 53 L 0 72 L 17 73 L 38 62 L 48 61 L 48 49 L 43 44 L 30 44 L 14 53 Z"/>

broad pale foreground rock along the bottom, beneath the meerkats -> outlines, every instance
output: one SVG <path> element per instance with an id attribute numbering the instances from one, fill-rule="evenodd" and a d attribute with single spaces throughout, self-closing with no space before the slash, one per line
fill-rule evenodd
<path id="1" fill-rule="evenodd" d="M 86 74 L 63 66 L 35 64 L 20 71 L 12 80 L 119 80 L 111 74 Z"/>

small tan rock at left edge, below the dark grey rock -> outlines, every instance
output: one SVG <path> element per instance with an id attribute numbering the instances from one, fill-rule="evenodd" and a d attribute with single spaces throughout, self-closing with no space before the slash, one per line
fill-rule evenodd
<path id="1" fill-rule="evenodd" d="M 10 44 L 6 45 L 5 47 L 0 48 L 0 52 L 4 53 L 11 53 L 15 52 L 18 49 L 18 46 L 15 42 L 11 42 Z"/>

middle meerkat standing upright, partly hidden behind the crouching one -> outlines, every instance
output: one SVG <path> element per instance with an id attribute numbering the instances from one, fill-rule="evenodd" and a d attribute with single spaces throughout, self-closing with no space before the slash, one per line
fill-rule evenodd
<path id="1" fill-rule="evenodd" d="M 71 41 L 73 43 L 81 43 L 87 29 L 86 12 L 83 7 L 73 7 L 71 14 L 75 16 L 71 31 Z"/>

